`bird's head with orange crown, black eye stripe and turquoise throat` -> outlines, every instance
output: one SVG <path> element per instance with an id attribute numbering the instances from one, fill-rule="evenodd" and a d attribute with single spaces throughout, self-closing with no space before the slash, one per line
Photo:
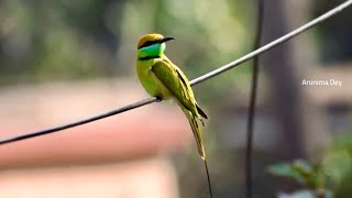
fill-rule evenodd
<path id="1" fill-rule="evenodd" d="M 162 34 L 145 34 L 138 44 L 138 58 L 158 57 L 165 48 L 165 42 L 174 37 L 163 36 Z"/>

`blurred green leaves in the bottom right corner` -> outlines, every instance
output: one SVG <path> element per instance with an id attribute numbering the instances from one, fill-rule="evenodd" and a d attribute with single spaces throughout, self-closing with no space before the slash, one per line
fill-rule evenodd
<path id="1" fill-rule="evenodd" d="M 320 163 L 297 160 L 270 166 L 270 173 L 301 184 L 318 197 L 332 191 L 334 197 L 352 195 L 352 134 L 338 136 Z"/>

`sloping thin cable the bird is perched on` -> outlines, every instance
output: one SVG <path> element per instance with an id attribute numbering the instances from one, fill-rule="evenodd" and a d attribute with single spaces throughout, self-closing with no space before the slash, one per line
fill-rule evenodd
<path id="1" fill-rule="evenodd" d="M 273 47 L 284 43 L 284 42 L 287 42 L 288 40 L 306 32 L 307 30 L 311 29 L 312 26 L 316 26 L 317 24 L 323 22 L 324 20 L 331 18 L 332 15 L 336 15 L 338 14 L 339 12 L 341 12 L 342 10 L 346 9 L 348 7 L 350 7 L 352 4 L 352 0 L 348 0 L 345 1 L 344 3 L 338 6 L 337 8 L 330 10 L 329 12 L 320 15 L 319 18 L 306 23 L 305 25 L 292 31 L 290 33 L 264 45 L 263 47 L 256 50 L 256 51 L 253 51 L 249 54 L 246 54 L 245 56 L 242 56 L 241 58 L 237 59 L 237 61 L 233 61 L 224 66 L 221 66 L 220 68 L 218 69 L 215 69 L 210 73 L 207 73 L 194 80 L 190 81 L 190 85 L 191 86 L 195 86 L 197 84 L 200 84 L 205 80 L 208 80 L 215 76 L 218 76 L 231 68 L 234 68 L 235 66 L 239 66 L 240 64 L 242 63 L 245 63 L 250 59 L 252 59 L 253 57 L 260 55 L 260 54 L 263 54 L 270 50 L 272 50 Z M 25 140 L 25 139 L 31 139 L 31 138 L 35 138 L 35 136 L 41 136 L 41 135 L 44 135 L 44 134 L 50 134 L 50 133 L 54 133 L 54 132 L 57 132 L 57 131 L 62 131 L 62 130 L 65 130 L 65 129 L 68 129 L 68 128 L 74 128 L 74 127 L 77 127 L 77 125 L 81 125 L 81 124 L 86 124 L 86 123 L 89 123 L 89 122 L 92 122 L 92 121 L 96 121 L 96 120 L 100 120 L 100 119 L 103 119 L 103 118 L 107 118 L 107 117 L 111 117 L 111 116 L 114 116 L 114 114 L 119 114 L 121 112 L 125 112 L 125 111 L 129 111 L 129 110 L 132 110 L 132 109 L 135 109 L 135 108 L 139 108 L 139 107 L 142 107 L 142 106 L 145 106 L 145 105 L 148 105 L 148 103 L 153 103 L 155 101 L 158 101 L 158 99 L 156 98 L 148 98 L 148 99 L 145 99 L 145 100 L 142 100 L 142 101 L 139 101 L 139 102 L 135 102 L 135 103 L 131 103 L 129 106 L 124 106 L 122 108 L 119 108 L 117 110 L 113 110 L 113 111 L 110 111 L 110 112 L 107 112 L 107 113 L 103 113 L 101 116 L 96 116 L 96 117 L 92 117 L 92 118 L 89 118 L 89 119 L 86 119 L 86 120 L 81 120 L 81 121 L 77 121 L 77 122 L 73 122 L 73 123 L 68 123 L 68 124 L 65 124 L 65 125 L 61 125 L 61 127 L 56 127 L 56 128 L 52 128 L 52 129 L 47 129 L 47 130 L 43 130 L 43 131 L 37 131 L 37 132 L 32 132 L 32 133 L 26 133 L 26 134 L 23 134 L 23 135 L 19 135 L 19 136 L 13 136 L 13 138 L 9 138 L 9 139 L 4 139 L 4 140 L 1 140 L 0 141 L 0 144 L 7 144 L 7 143 L 11 143 L 11 142 L 16 142 L 16 141 L 20 141 L 20 140 Z"/>

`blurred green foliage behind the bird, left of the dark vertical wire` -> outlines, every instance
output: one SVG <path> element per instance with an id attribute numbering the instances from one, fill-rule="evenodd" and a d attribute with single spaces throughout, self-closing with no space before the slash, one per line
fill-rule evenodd
<path id="1" fill-rule="evenodd" d="M 176 37 L 166 53 L 193 79 L 251 51 L 251 2 L 1 0 L 0 85 L 134 75 L 135 43 L 150 32 Z M 208 86 L 223 91 L 248 74 Z"/>

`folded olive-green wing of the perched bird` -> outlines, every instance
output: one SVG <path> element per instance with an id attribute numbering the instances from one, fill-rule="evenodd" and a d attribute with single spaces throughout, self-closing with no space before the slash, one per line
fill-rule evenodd
<path id="1" fill-rule="evenodd" d="M 194 92 L 180 69 L 167 59 L 163 59 L 152 66 L 152 73 L 186 109 L 194 113 L 196 103 Z"/>

